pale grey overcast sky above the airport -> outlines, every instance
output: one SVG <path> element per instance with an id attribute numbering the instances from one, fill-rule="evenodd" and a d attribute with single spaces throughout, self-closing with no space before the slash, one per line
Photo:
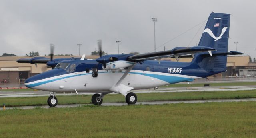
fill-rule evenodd
<path id="1" fill-rule="evenodd" d="M 38 51 L 43 56 L 53 43 L 54 54 L 78 55 L 81 43 L 80 54 L 89 55 L 98 39 L 108 54 L 118 53 L 117 40 L 120 53 L 153 52 L 152 17 L 158 20 L 156 51 L 195 46 L 214 11 L 232 14 L 228 50 L 235 51 L 238 41 L 237 50 L 253 58 L 255 6 L 254 0 L 1 0 L 0 54 Z"/>

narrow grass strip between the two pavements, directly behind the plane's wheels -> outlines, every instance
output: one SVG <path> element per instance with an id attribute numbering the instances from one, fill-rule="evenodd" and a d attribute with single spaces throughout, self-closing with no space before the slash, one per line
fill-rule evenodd
<path id="1" fill-rule="evenodd" d="M 86 104 L 91 103 L 92 95 L 57 95 L 58 105 L 61 104 Z M 256 90 L 248 91 L 211 91 L 211 92 L 175 92 L 175 93 L 138 93 L 138 102 L 142 101 L 175 101 L 175 100 L 200 100 L 200 99 L 240 99 L 256 98 Z M 0 104 L 10 106 L 47 105 L 48 97 L 8 97 L 0 98 Z M 120 94 L 108 94 L 103 103 L 124 102 L 125 97 Z"/>

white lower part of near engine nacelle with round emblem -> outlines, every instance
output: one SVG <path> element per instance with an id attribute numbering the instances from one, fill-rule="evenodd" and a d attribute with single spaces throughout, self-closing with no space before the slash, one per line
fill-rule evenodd
<path id="1" fill-rule="evenodd" d="M 120 61 L 114 61 L 114 62 L 106 63 L 106 68 L 104 68 L 104 66 L 102 66 L 102 68 L 104 70 L 118 70 L 118 69 L 127 68 L 129 66 L 134 65 L 134 64 L 136 64 L 136 62 L 120 60 Z"/>

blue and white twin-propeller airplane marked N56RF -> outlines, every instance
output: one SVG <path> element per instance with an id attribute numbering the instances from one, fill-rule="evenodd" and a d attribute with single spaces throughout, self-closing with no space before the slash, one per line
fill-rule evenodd
<path id="1" fill-rule="evenodd" d="M 120 93 L 126 103 L 135 104 L 137 96 L 130 90 L 153 88 L 178 82 L 190 82 L 198 78 L 226 71 L 230 14 L 211 13 L 202 33 L 199 45 L 176 47 L 168 51 L 146 54 L 111 54 L 102 56 L 102 42 L 98 41 L 100 58 L 22 58 L 19 63 L 46 63 L 53 69 L 28 78 L 26 87 L 50 91 L 47 103 L 58 103 L 54 93 L 97 93 L 92 96 L 94 105 L 102 104 L 104 95 Z M 193 57 L 192 62 L 158 61 L 164 57 Z"/>

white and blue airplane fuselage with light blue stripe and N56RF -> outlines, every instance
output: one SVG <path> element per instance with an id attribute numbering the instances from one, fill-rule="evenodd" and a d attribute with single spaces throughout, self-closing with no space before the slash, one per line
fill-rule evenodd
<path id="1" fill-rule="evenodd" d="M 52 92 L 78 92 L 95 93 L 109 92 L 111 87 L 124 75 L 125 69 L 103 70 L 102 65 L 95 60 L 70 60 L 63 61 L 68 66 L 54 68 L 47 72 L 28 78 L 26 87 Z M 68 68 L 76 65 L 74 72 L 69 72 Z M 145 61 L 143 64 L 137 63 L 121 84 L 135 89 L 146 89 L 167 84 L 174 84 L 184 81 L 192 81 L 202 76 L 193 76 L 191 63 L 180 63 L 155 60 Z M 93 77 L 92 68 L 98 69 L 98 76 Z M 81 69 L 82 68 L 82 69 Z M 88 70 L 86 70 L 88 68 Z M 80 71 L 84 70 L 84 71 Z M 190 72 L 189 75 L 186 72 Z M 194 70 L 194 73 L 198 70 Z M 202 72 L 202 70 L 200 71 Z"/>

